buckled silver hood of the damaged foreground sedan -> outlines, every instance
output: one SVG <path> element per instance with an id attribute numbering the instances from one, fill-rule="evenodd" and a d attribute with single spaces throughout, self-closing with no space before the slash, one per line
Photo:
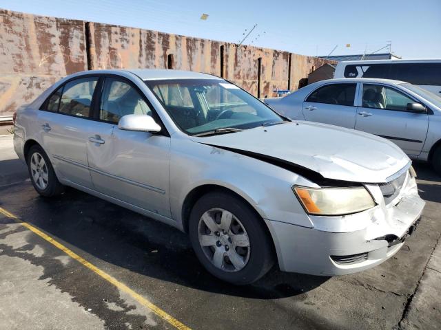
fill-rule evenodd
<path id="1" fill-rule="evenodd" d="M 251 157 L 258 155 L 258 159 L 280 159 L 327 179 L 353 182 L 390 181 L 410 162 L 396 144 L 382 137 L 316 122 L 260 126 L 192 140 Z"/>

